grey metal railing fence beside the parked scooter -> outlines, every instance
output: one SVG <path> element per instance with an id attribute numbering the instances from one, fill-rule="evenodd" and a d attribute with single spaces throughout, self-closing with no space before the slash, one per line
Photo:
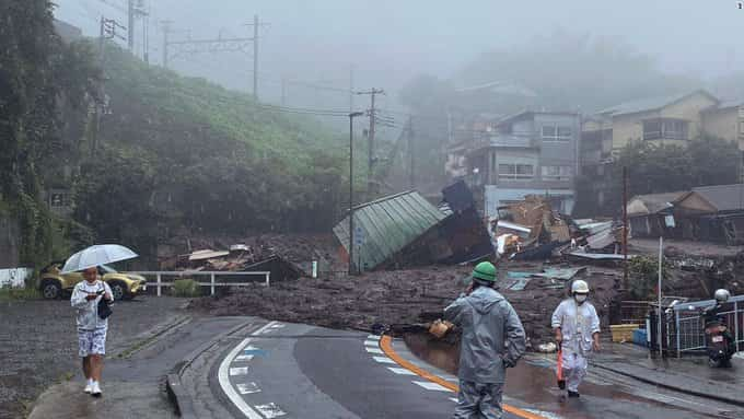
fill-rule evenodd
<path id="1" fill-rule="evenodd" d="M 666 348 L 682 357 L 684 352 L 706 349 L 704 311 L 716 304 L 714 300 L 682 303 L 665 316 Z M 734 337 L 736 350 L 744 350 L 744 295 L 733 296 L 720 315 Z"/>

